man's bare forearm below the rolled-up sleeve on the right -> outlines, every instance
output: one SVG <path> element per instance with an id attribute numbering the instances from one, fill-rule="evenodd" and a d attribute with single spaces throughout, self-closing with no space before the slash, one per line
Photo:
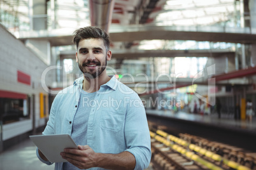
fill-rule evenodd
<path id="1" fill-rule="evenodd" d="M 97 153 L 97 167 L 105 169 L 134 169 L 136 159 L 130 152 L 120 154 L 101 154 Z"/>

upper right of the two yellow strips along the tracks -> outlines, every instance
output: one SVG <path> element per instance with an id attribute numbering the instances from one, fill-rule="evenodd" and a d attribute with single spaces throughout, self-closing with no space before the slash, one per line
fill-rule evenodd
<path id="1" fill-rule="evenodd" d="M 177 138 L 176 136 L 173 136 L 171 134 L 167 134 L 166 132 L 164 131 L 161 131 L 161 130 L 157 130 L 157 134 L 159 134 L 160 136 L 163 136 L 165 138 L 167 138 L 167 140 L 171 140 L 171 141 L 174 141 L 184 147 L 188 147 L 190 148 L 191 150 L 194 150 L 196 152 L 199 152 L 200 154 L 202 155 L 205 155 L 206 157 L 210 157 L 211 159 L 213 160 L 216 160 L 218 162 L 220 161 L 223 161 L 223 163 L 229 167 L 232 167 L 233 169 L 238 169 L 238 170 L 250 170 L 250 168 L 246 167 L 246 166 L 242 166 L 240 164 L 238 164 L 237 162 L 234 162 L 232 160 L 228 160 L 228 159 L 225 159 L 224 157 L 218 155 L 218 154 L 215 154 L 213 152 L 210 152 L 204 148 L 201 148 L 201 147 L 198 147 L 197 145 L 194 145 L 194 144 L 190 144 L 188 143 L 187 141 L 185 140 L 181 140 L 180 138 Z"/>

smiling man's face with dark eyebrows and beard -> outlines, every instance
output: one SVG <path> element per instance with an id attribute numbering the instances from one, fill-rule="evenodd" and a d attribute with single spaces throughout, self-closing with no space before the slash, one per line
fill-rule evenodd
<path id="1" fill-rule="evenodd" d="M 82 39 L 78 44 L 76 62 L 86 78 L 95 79 L 106 74 L 107 60 L 111 51 L 106 51 L 102 39 Z"/>

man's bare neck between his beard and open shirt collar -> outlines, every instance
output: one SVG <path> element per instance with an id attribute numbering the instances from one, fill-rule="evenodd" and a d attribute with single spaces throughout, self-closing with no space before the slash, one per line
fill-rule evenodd
<path id="1" fill-rule="evenodd" d="M 99 75 L 95 79 L 87 79 L 83 77 L 83 90 L 87 91 L 88 93 L 93 93 L 101 88 L 101 85 L 105 84 L 106 82 L 110 81 L 110 77 L 108 75 Z"/>

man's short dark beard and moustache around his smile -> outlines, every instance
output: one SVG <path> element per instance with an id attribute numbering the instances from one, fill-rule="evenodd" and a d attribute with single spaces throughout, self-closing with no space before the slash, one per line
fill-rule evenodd
<path id="1" fill-rule="evenodd" d="M 90 64 L 96 64 L 97 67 L 99 68 L 97 70 L 90 70 L 85 68 L 86 65 L 90 65 Z M 83 73 L 85 79 L 95 79 L 96 77 L 101 75 L 103 71 L 106 69 L 106 64 L 107 64 L 107 59 L 105 60 L 105 63 L 103 63 L 103 65 L 101 65 L 101 62 L 96 62 L 96 61 L 88 61 L 86 63 L 78 62 L 78 67 Z"/>

